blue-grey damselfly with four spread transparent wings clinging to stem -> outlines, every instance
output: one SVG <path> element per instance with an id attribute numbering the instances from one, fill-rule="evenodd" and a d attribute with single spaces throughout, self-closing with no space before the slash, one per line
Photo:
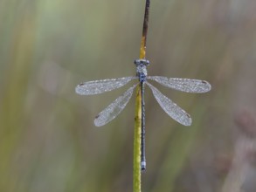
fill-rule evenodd
<path id="1" fill-rule="evenodd" d="M 178 91 L 186 93 L 206 93 L 211 90 L 211 85 L 205 80 L 198 79 L 177 79 L 177 78 L 166 78 L 162 76 L 147 76 L 147 65 L 149 60 L 136 59 L 136 76 L 135 77 L 124 77 L 118 79 L 102 79 L 87 81 L 80 83 L 75 89 L 76 93 L 80 95 L 93 95 L 112 91 L 121 86 L 125 86 L 132 79 L 139 79 L 139 82 L 134 86 L 128 88 L 120 97 L 114 100 L 109 106 L 101 111 L 95 118 L 94 124 L 97 127 L 106 125 L 109 121 L 121 113 L 124 107 L 128 104 L 134 89 L 140 84 L 141 95 L 142 95 L 142 161 L 141 168 L 146 168 L 145 158 L 145 102 L 144 102 L 144 85 L 146 84 L 151 89 L 159 105 L 163 110 L 170 115 L 173 120 L 176 120 L 184 126 L 191 125 L 190 114 L 186 113 L 181 107 L 177 106 L 176 103 L 172 102 L 169 98 L 163 95 L 155 86 L 152 86 L 149 80 L 155 80 L 157 83 L 167 86 Z"/>

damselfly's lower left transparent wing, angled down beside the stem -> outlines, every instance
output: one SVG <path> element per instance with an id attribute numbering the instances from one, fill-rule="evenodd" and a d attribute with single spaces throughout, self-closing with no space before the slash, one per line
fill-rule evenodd
<path id="1" fill-rule="evenodd" d="M 114 118 L 121 113 L 124 107 L 128 104 L 129 99 L 131 99 L 135 86 L 128 88 L 128 90 L 123 93 L 120 97 L 114 100 L 109 106 L 107 106 L 103 111 L 101 111 L 95 118 L 94 124 L 97 127 L 104 126 L 109 121 L 114 120 Z"/>

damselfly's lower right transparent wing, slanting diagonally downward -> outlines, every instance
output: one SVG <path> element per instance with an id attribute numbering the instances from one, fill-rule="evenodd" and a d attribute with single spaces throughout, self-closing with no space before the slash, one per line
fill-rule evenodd
<path id="1" fill-rule="evenodd" d="M 164 96 L 155 86 L 152 86 L 148 82 L 146 84 L 152 90 L 153 95 L 155 96 L 159 105 L 163 108 L 163 110 L 170 115 L 173 120 L 176 120 L 180 124 L 184 126 L 191 125 L 191 118 L 188 113 L 186 113 L 181 107 L 177 106 L 176 103 L 172 102 L 169 98 Z"/>

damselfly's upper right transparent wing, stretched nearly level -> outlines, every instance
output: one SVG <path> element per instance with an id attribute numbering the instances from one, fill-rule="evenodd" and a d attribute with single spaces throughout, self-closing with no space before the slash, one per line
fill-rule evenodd
<path id="1" fill-rule="evenodd" d="M 150 76 L 148 79 L 155 80 L 163 86 L 167 86 L 178 91 L 187 93 L 205 93 L 211 90 L 211 84 L 205 80 L 198 79 L 178 79 L 161 76 Z"/>

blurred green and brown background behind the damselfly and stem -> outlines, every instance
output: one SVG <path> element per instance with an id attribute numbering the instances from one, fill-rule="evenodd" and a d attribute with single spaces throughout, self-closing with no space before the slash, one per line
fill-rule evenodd
<path id="1" fill-rule="evenodd" d="M 80 96 L 82 81 L 135 75 L 145 1 L 0 0 L 0 191 L 132 191 L 135 95 Z M 142 191 L 256 191 L 256 1 L 152 1 L 149 75 L 204 79 L 210 93 L 159 90 L 190 113 L 170 119 L 146 88 Z"/>

